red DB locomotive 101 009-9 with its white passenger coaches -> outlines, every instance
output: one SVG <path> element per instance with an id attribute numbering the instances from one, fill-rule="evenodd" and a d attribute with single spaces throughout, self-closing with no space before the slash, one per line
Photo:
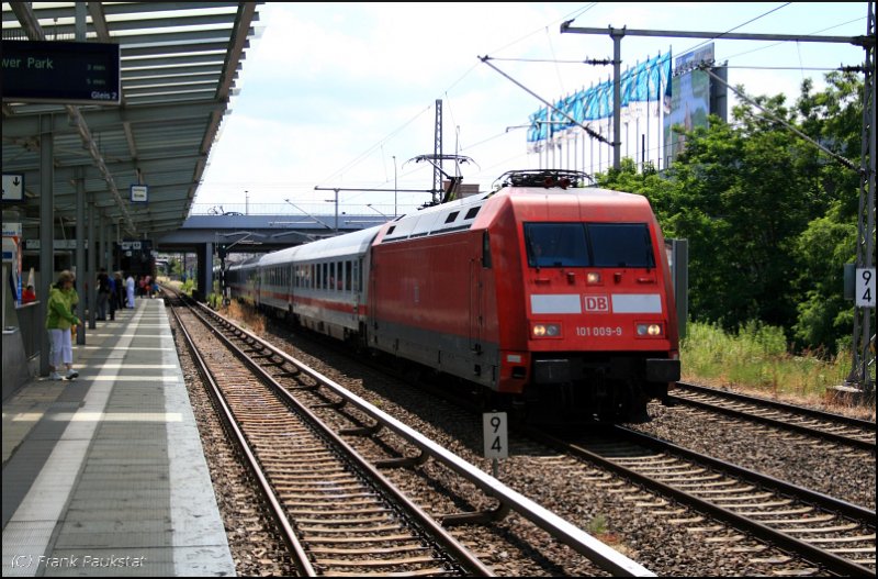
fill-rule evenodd
<path id="1" fill-rule="evenodd" d="M 232 265 L 225 283 L 533 420 L 642 422 L 680 374 L 664 237 L 644 197 L 589 179 L 508 171 L 491 192 Z"/>

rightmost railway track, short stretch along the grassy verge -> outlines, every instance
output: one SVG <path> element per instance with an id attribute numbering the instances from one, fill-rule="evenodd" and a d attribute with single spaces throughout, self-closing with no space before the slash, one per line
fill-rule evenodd
<path id="1" fill-rule="evenodd" d="M 669 396 L 675 404 L 722 413 L 828 441 L 842 447 L 875 453 L 874 422 L 687 382 L 677 382 Z"/>

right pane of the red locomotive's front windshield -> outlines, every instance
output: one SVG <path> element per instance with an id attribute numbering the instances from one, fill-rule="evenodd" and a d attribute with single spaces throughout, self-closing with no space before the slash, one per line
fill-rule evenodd
<path id="1" fill-rule="evenodd" d="M 589 223 L 587 229 L 596 267 L 655 267 L 645 223 Z"/>

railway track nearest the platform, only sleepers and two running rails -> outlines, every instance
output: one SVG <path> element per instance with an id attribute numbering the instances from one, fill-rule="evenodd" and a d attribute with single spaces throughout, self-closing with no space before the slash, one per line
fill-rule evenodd
<path id="1" fill-rule="evenodd" d="M 192 327 L 189 315 L 179 315 L 180 327 Z M 199 342 L 193 355 L 222 367 L 205 367 L 217 404 L 246 445 L 302 575 L 493 575 L 292 397 L 255 379 L 247 353 L 216 338 L 206 345 L 203 334 Z M 223 352 L 229 347 L 234 354 Z"/>

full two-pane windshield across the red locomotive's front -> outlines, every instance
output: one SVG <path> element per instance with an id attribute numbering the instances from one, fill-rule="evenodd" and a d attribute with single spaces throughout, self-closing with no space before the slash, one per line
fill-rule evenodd
<path id="1" fill-rule="evenodd" d="M 530 267 L 655 267 L 645 223 L 525 223 Z"/>

